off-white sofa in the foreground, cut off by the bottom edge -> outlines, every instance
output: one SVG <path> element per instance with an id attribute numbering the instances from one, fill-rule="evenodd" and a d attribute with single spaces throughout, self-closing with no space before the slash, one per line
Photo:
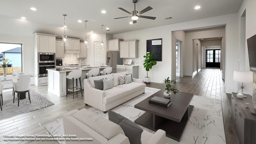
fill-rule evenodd
<path id="1" fill-rule="evenodd" d="M 63 116 L 64 134 L 89 140 L 66 140 L 66 144 L 130 144 L 122 128 L 92 112 L 82 109 L 72 110 Z M 92 140 L 91 140 L 92 139 Z M 143 130 L 142 144 L 165 144 L 166 132 L 157 130 L 154 134 Z"/>

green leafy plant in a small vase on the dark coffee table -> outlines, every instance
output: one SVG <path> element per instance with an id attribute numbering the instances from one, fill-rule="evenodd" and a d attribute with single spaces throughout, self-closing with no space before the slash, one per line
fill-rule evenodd
<path id="1" fill-rule="evenodd" d="M 175 84 L 176 81 L 175 80 L 169 80 L 169 77 L 168 78 L 165 78 L 164 79 L 164 87 L 165 87 L 165 90 L 164 91 L 164 98 L 171 98 L 171 92 L 173 92 L 174 94 L 176 94 L 177 92 L 179 92 L 179 90 L 177 90 L 175 87 Z"/>

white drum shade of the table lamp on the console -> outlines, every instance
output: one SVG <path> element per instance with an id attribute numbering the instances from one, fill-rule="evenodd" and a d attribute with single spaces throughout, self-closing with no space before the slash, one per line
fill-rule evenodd
<path id="1" fill-rule="evenodd" d="M 252 83 L 253 74 L 252 72 L 245 71 L 234 71 L 233 80 L 236 82 Z"/>

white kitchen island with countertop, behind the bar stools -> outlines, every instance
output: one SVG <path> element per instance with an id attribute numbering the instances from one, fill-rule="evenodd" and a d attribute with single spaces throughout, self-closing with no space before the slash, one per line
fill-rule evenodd
<path id="1" fill-rule="evenodd" d="M 102 71 L 104 68 L 108 66 L 102 67 L 60 67 L 60 68 L 50 68 L 46 69 L 48 71 L 48 92 L 52 92 L 57 96 L 66 96 L 66 76 L 69 72 L 73 70 L 82 70 L 81 83 L 82 89 L 84 88 L 84 79 L 86 78 L 86 73 L 94 68 L 100 68 Z M 76 85 L 76 80 L 74 80 L 74 86 Z M 72 80 L 68 80 L 68 88 L 72 87 Z M 79 80 L 78 87 L 80 88 Z"/>

